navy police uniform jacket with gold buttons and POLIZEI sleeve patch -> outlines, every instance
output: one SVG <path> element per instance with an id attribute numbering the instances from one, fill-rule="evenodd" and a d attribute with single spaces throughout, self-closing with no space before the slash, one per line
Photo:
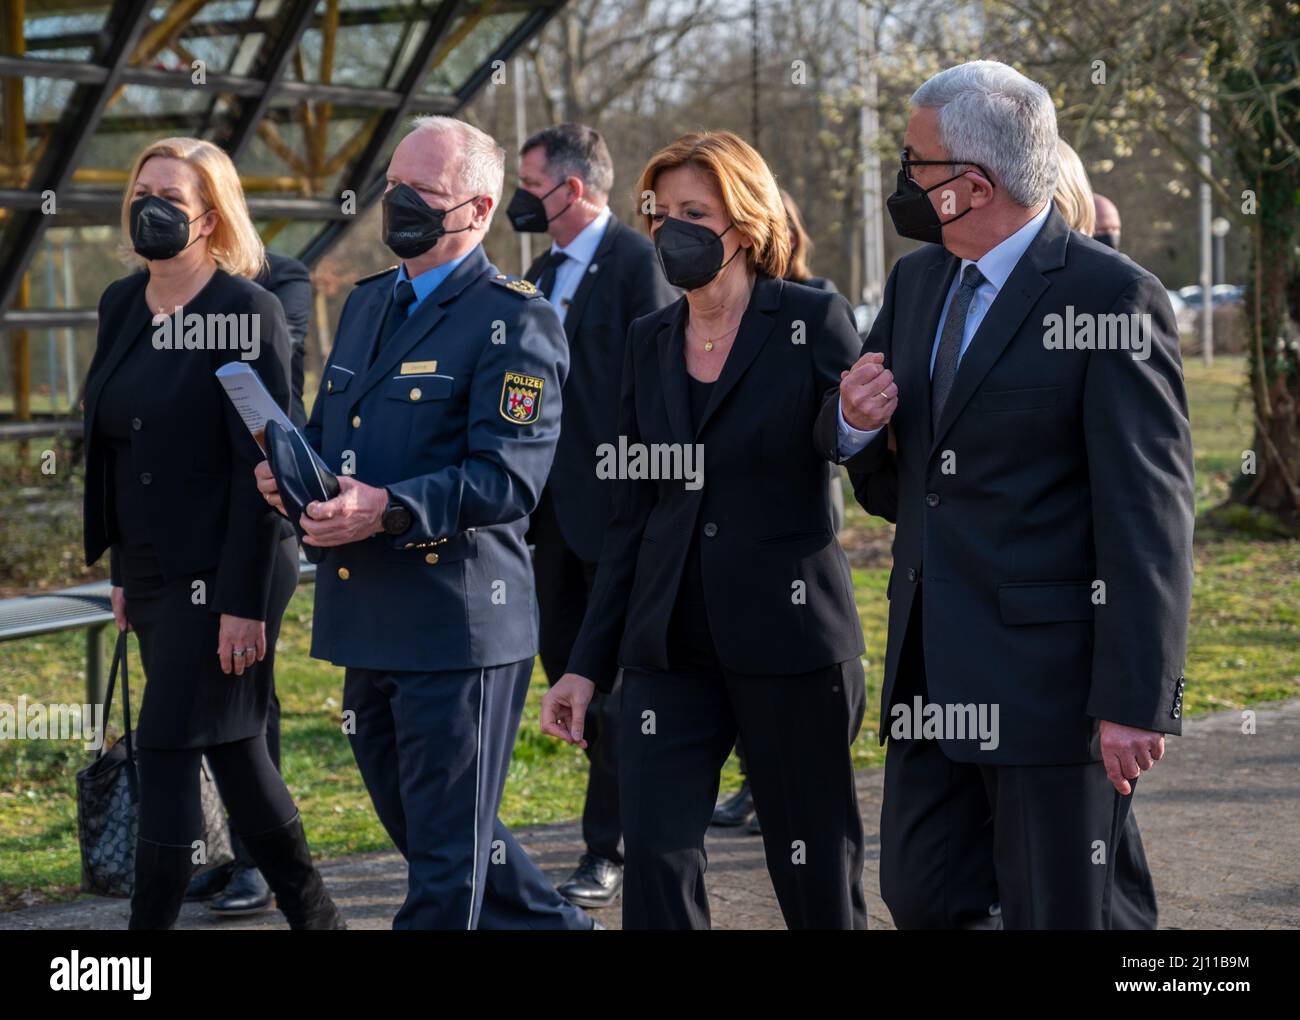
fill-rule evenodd
<path id="1" fill-rule="evenodd" d="M 537 651 L 524 544 L 560 427 L 568 352 L 541 294 L 474 248 L 370 363 L 396 268 L 348 296 L 306 430 L 339 473 L 413 524 L 326 551 L 312 655 L 434 672 Z"/>

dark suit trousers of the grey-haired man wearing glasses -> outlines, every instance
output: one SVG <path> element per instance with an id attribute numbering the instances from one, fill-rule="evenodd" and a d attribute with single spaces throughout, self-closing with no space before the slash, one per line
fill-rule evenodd
<path id="1" fill-rule="evenodd" d="M 920 604 L 918 591 L 894 702 L 926 698 Z M 982 765 L 950 760 L 937 741 L 890 737 L 881 897 L 898 928 L 987 923 L 993 904 L 1009 929 L 1154 926 L 1131 806 L 1100 761 Z"/>

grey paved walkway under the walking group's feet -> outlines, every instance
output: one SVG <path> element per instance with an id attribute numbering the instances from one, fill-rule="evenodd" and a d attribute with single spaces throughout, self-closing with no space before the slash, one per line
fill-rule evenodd
<path id="1" fill-rule="evenodd" d="M 1162 928 L 1300 928 L 1300 699 L 1258 708 L 1254 735 L 1242 715 L 1221 712 L 1186 725 L 1182 739 L 1145 776 L 1136 811 L 1156 877 Z M 883 772 L 858 774 L 867 829 L 867 906 L 872 928 L 892 928 L 879 890 Z M 521 829 L 520 842 L 547 874 L 563 878 L 580 852 L 575 824 Z M 387 928 L 404 894 L 396 852 L 363 854 L 321 867 L 352 928 Z M 715 928 L 780 928 L 781 915 L 758 837 L 712 830 L 708 890 Z M 125 928 L 124 900 L 74 903 L 0 913 L 0 929 Z M 608 928 L 619 910 L 599 911 Z M 179 928 L 280 928 L 266 913 L 214 921 L 186 904 Z"/>

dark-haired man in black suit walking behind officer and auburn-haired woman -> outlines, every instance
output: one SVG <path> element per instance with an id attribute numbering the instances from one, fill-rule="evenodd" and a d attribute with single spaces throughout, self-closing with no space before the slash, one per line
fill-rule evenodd
<path id="1" fill-rule="evenodd" d="M 552 239 L 525 278 L 555 307 L 569 346 L 555 464 L 529 533 L 542 668 L 554 685 L 577 639 L 610 517 L 610 486 L 597 478 L 595 451 L 618 443 L 628 326 L 677 292 L 664 281 L 650 240 L 610 212 L 614 162 L 598 131 L 555 125 L 524 142 L 519 155 L 519 190 L 507 214 L 516 230 Z M 623 885 L 616 726 L 607 724 L 618 719 L 619 687 L 597 695 L 586 716 L 586 852 L 559 886 L 581 907 L 608 906 Z"/>

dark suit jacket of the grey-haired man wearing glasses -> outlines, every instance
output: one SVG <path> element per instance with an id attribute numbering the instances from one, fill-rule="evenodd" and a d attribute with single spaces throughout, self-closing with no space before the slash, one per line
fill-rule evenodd
<path id="1" fill-rule="evenodd" d="M 858 502 L 897 521 L 880 738 L 918 589 L 928 700 L 998 707 L 998 746 L 945 739 L 949 758 L 1095 760 L 1101 719 L 1178 733 L 1193 486 L 1165 288 L 1053 210 L 932 434 L 930 355 L 958 265 L 936 244 L 898 260 L 863 347 L 884 352 L 898 385 L 897 453 L 881 431 L 846 461 Z M 1049 348 L 1046 317 L 1071 305 L 1076 321 L 1149 314 L 1149 357 Z M 826 456 L 837 413 L 836 390 L 818 421 Z"/>

